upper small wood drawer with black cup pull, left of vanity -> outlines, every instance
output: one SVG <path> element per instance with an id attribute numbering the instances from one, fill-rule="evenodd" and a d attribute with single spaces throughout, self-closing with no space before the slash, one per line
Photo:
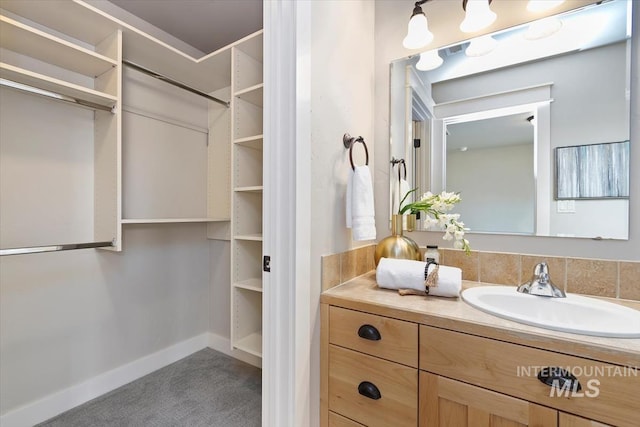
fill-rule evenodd
<path id="1" fill-rule="evenodd" d="M 418 325 L 339 307 L 329 310 L 329 342 L 418 367 Z"/>

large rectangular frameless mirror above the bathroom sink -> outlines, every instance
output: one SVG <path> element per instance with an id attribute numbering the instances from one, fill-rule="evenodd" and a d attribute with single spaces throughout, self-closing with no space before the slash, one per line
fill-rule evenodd
<path id="1" fill-rule="evenodd" d="M 447 190 L 472 233 L 628 239 L 632 3 L 393 62 L 390 211 Z"/>

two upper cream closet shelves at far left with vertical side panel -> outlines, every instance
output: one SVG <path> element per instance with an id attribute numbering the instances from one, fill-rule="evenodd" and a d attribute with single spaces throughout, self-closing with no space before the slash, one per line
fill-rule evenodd
<path id="1" fill-rule="evenodd" d="M 7 6 L 11 6 L 11 2 Z M 5 7 L 4 2 L 2 7 Z M 95 110 L 93 141 L 87 141 L 87 144 L 93 144 L 94 152 L 93 176 L 87 177 L 94 183 L 93 204 L 85 206 L 78 202 L 80 205 L 70 207 L 93 212 L 93 231 L 71 230 L 71 234 L 78 240 L 82 239 L 78 242 L 81 246 L 93 247 L 90 245 L 110 242 L 104 247 L 120 250 L 120 177 L 116 162 L 121 145 L 122 32 L 114 27 L 99 40 L 73 39 L 64 33 L 43 31 L 40 25 L 19 18 L 6 10 L 0 15 L 2 85 Z M 18 137 L 25 144 L 34 144 L 34 148 L 38 144 L 50 143 L 32 138 L 28 130 Z M 12 180 L 20 181 L 26 176 L 46 179 L 36 166 L 29 171 L 22 170 L 20 174 Z M 31 194 L 29 197 L 40 196 Z M 43 212 L 47 212 L 47 208 L 50 206 L 43 206 Z M 15 217 L 15 212 L 9 216 Z M 36 244 L 41 245 L 40 248 L 42 245 L 57 247 L 71 244 L 68 235 L 57 235 L 59 233 L 56 232 L 65 228 L 61 225 L 64 221 L 56 215 L 41 215 L 31 229 L 37 230 L 38 238 L 54 241 L 38 241 Z M 23 246 L 35 246 L 34 243 L 25 241 Z"/>

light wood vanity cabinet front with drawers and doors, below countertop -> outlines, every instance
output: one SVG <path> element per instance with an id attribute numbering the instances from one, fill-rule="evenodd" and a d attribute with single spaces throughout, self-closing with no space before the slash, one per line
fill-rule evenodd
<path id="1" fill-rule="evenodd" d="M 637 367 L 428 326 L 426 318 L 415 320 L 415 306 L 406 315 L 388 305 L 373 313 L 355 296 L 344 307 L 342 301 L 332 297 L 331 304 L 321 304 L 322 426 L 335 423 L 336 415 L 365 426 L 640 425 Z M 379 338 L 359 336 L 363 325 L 374 327 Z M 537 375 L 545 367 L 568 369 L 581 390 L 544 384 Z M 363 381 L 390 391 L 381 387 L 382 398 L 365 398 L 358 393 Z M 385 406 L 387 396 L 397 400 Z"/>

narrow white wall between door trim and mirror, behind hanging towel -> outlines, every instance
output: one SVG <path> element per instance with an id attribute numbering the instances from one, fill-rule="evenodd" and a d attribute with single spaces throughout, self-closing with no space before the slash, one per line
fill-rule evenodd
<path id="1" fill-rule="evenodd" d="M 377 177 L 374 153 L 374 2 L 311 1 L 311 277 L 312 319 L 310 422 L 319 423 L 320 257 L 362 246 L 345 225 L 345 192 L 350 168 L 345 132 L 361 135 L 369 147 L 369 166 Z M 304 141 L 300 141 L 304 143 Z M 354 148 L 354 162 L 364 151 Z M 385 157 L 386 160 L 386 157 Z M 375 165 L 375 166 L 374 166 Z M 387 163 L 382 162 L 387 173 Z M 377 195 L 376 195 L 377 196 Z"/>

